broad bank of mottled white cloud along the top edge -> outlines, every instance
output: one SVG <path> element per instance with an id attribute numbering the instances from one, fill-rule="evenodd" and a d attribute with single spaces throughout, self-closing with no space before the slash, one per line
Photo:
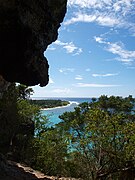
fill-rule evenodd
<path id="1" fill-rule="evenodd" d="M 68 0 L 68 7 L 74 7 L 76 13 L 65 21 L 65 25 L 95 22 L 102 26 L 129 28 L 135 32 L 135 23 L 130 18 L 134 14 L 135 0 Z"/>

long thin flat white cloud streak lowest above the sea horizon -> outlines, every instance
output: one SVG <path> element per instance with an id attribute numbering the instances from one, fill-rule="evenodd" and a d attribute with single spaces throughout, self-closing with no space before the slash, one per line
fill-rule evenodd
<path id="1" fill-rule="evenodd" d="M 75 85 L 76 87 L 84 87 L 84 88 L 109 88 L 109 87 L 118 87 L 121 85 L 115 85 L 115 84 L 86 84 L 86 83 L 77 83 Z"/>

